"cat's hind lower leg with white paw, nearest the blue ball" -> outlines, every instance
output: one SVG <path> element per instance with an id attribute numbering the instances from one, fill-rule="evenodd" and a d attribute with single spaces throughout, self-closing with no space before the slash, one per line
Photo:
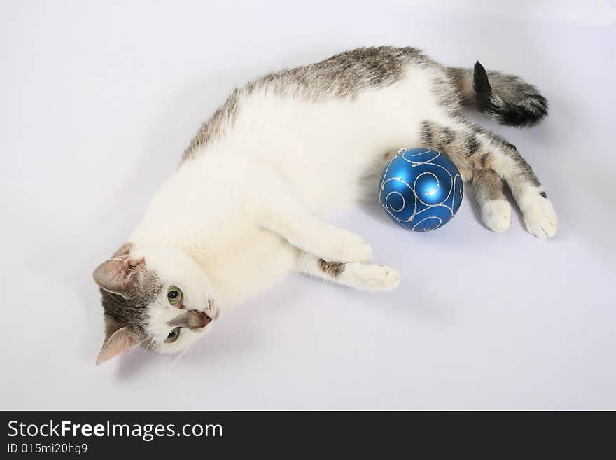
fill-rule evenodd
<path id="1" fill-rule="evenodd" d="M 511 225 L 511 205 L 503 193 L 503 179 L 492 169 L 482 169 L 472 172 L 471 181 L 483 223 L 498 233 L 507 230 Z"/>

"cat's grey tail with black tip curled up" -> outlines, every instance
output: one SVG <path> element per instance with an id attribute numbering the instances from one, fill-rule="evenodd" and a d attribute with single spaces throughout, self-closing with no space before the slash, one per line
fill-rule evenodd
<path id="1" fill-rule="evenodd" d="M 479 61 L 474 70 L 451 67 L 449 72 L 465 101 L 503 125 L 530 127 L 547 115 L 547 99 L 517 76 L 486 72 Z"/>

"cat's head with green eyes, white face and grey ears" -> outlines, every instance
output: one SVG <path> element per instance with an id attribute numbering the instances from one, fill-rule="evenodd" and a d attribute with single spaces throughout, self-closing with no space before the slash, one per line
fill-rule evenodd
<path id="1" fill-rule="evenodd" d="M 209 279 L 176 249 L 136 251 L 127 243 L 93 276 L 105 318 L 97 364 L 139 344 L 160 353 L 181 351 L 209 332 L 218 317 Z"/>

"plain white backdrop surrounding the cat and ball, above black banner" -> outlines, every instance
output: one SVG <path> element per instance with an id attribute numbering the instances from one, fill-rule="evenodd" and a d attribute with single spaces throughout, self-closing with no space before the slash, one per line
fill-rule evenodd
<path id="1" fill-rule="evenodd" d="M 616 409 L 613 3 L 3 0 L 0 37 L 1 409 Z M 396 291 L 290 275 L 180 360 L 95 367 L 92 269 L 200 123 L 260 74 L 381 44 L 544 92 L 534 130 L 481 123 L 534 167 L 558 235 L 490 232 L 470 188 L 426 235 L 351 209 L 328 220 Z"/>

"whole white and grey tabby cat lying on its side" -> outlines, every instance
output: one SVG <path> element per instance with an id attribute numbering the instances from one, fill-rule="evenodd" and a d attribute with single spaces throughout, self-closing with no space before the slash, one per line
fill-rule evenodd
<path id="1" fill-rule="evenodd" d="M 402 146 L 447 153 L 474 185 L 482 221 L 510 226 L 509 186 L 528 232 L 556 212 L 517 148 L 463 104 L 535 125 L 547 100 L 517 76 L 444 67 L 416 48 L 359 48 L 235 89 L 155 193 L 128 242 L 94 270 L 105 339 L 97 364 L 138 344 L 186 349 L 225 309 L 300 272 L 367 291 L 398 286 L 361 237 L 318 216 L 365 200 Z"/>

